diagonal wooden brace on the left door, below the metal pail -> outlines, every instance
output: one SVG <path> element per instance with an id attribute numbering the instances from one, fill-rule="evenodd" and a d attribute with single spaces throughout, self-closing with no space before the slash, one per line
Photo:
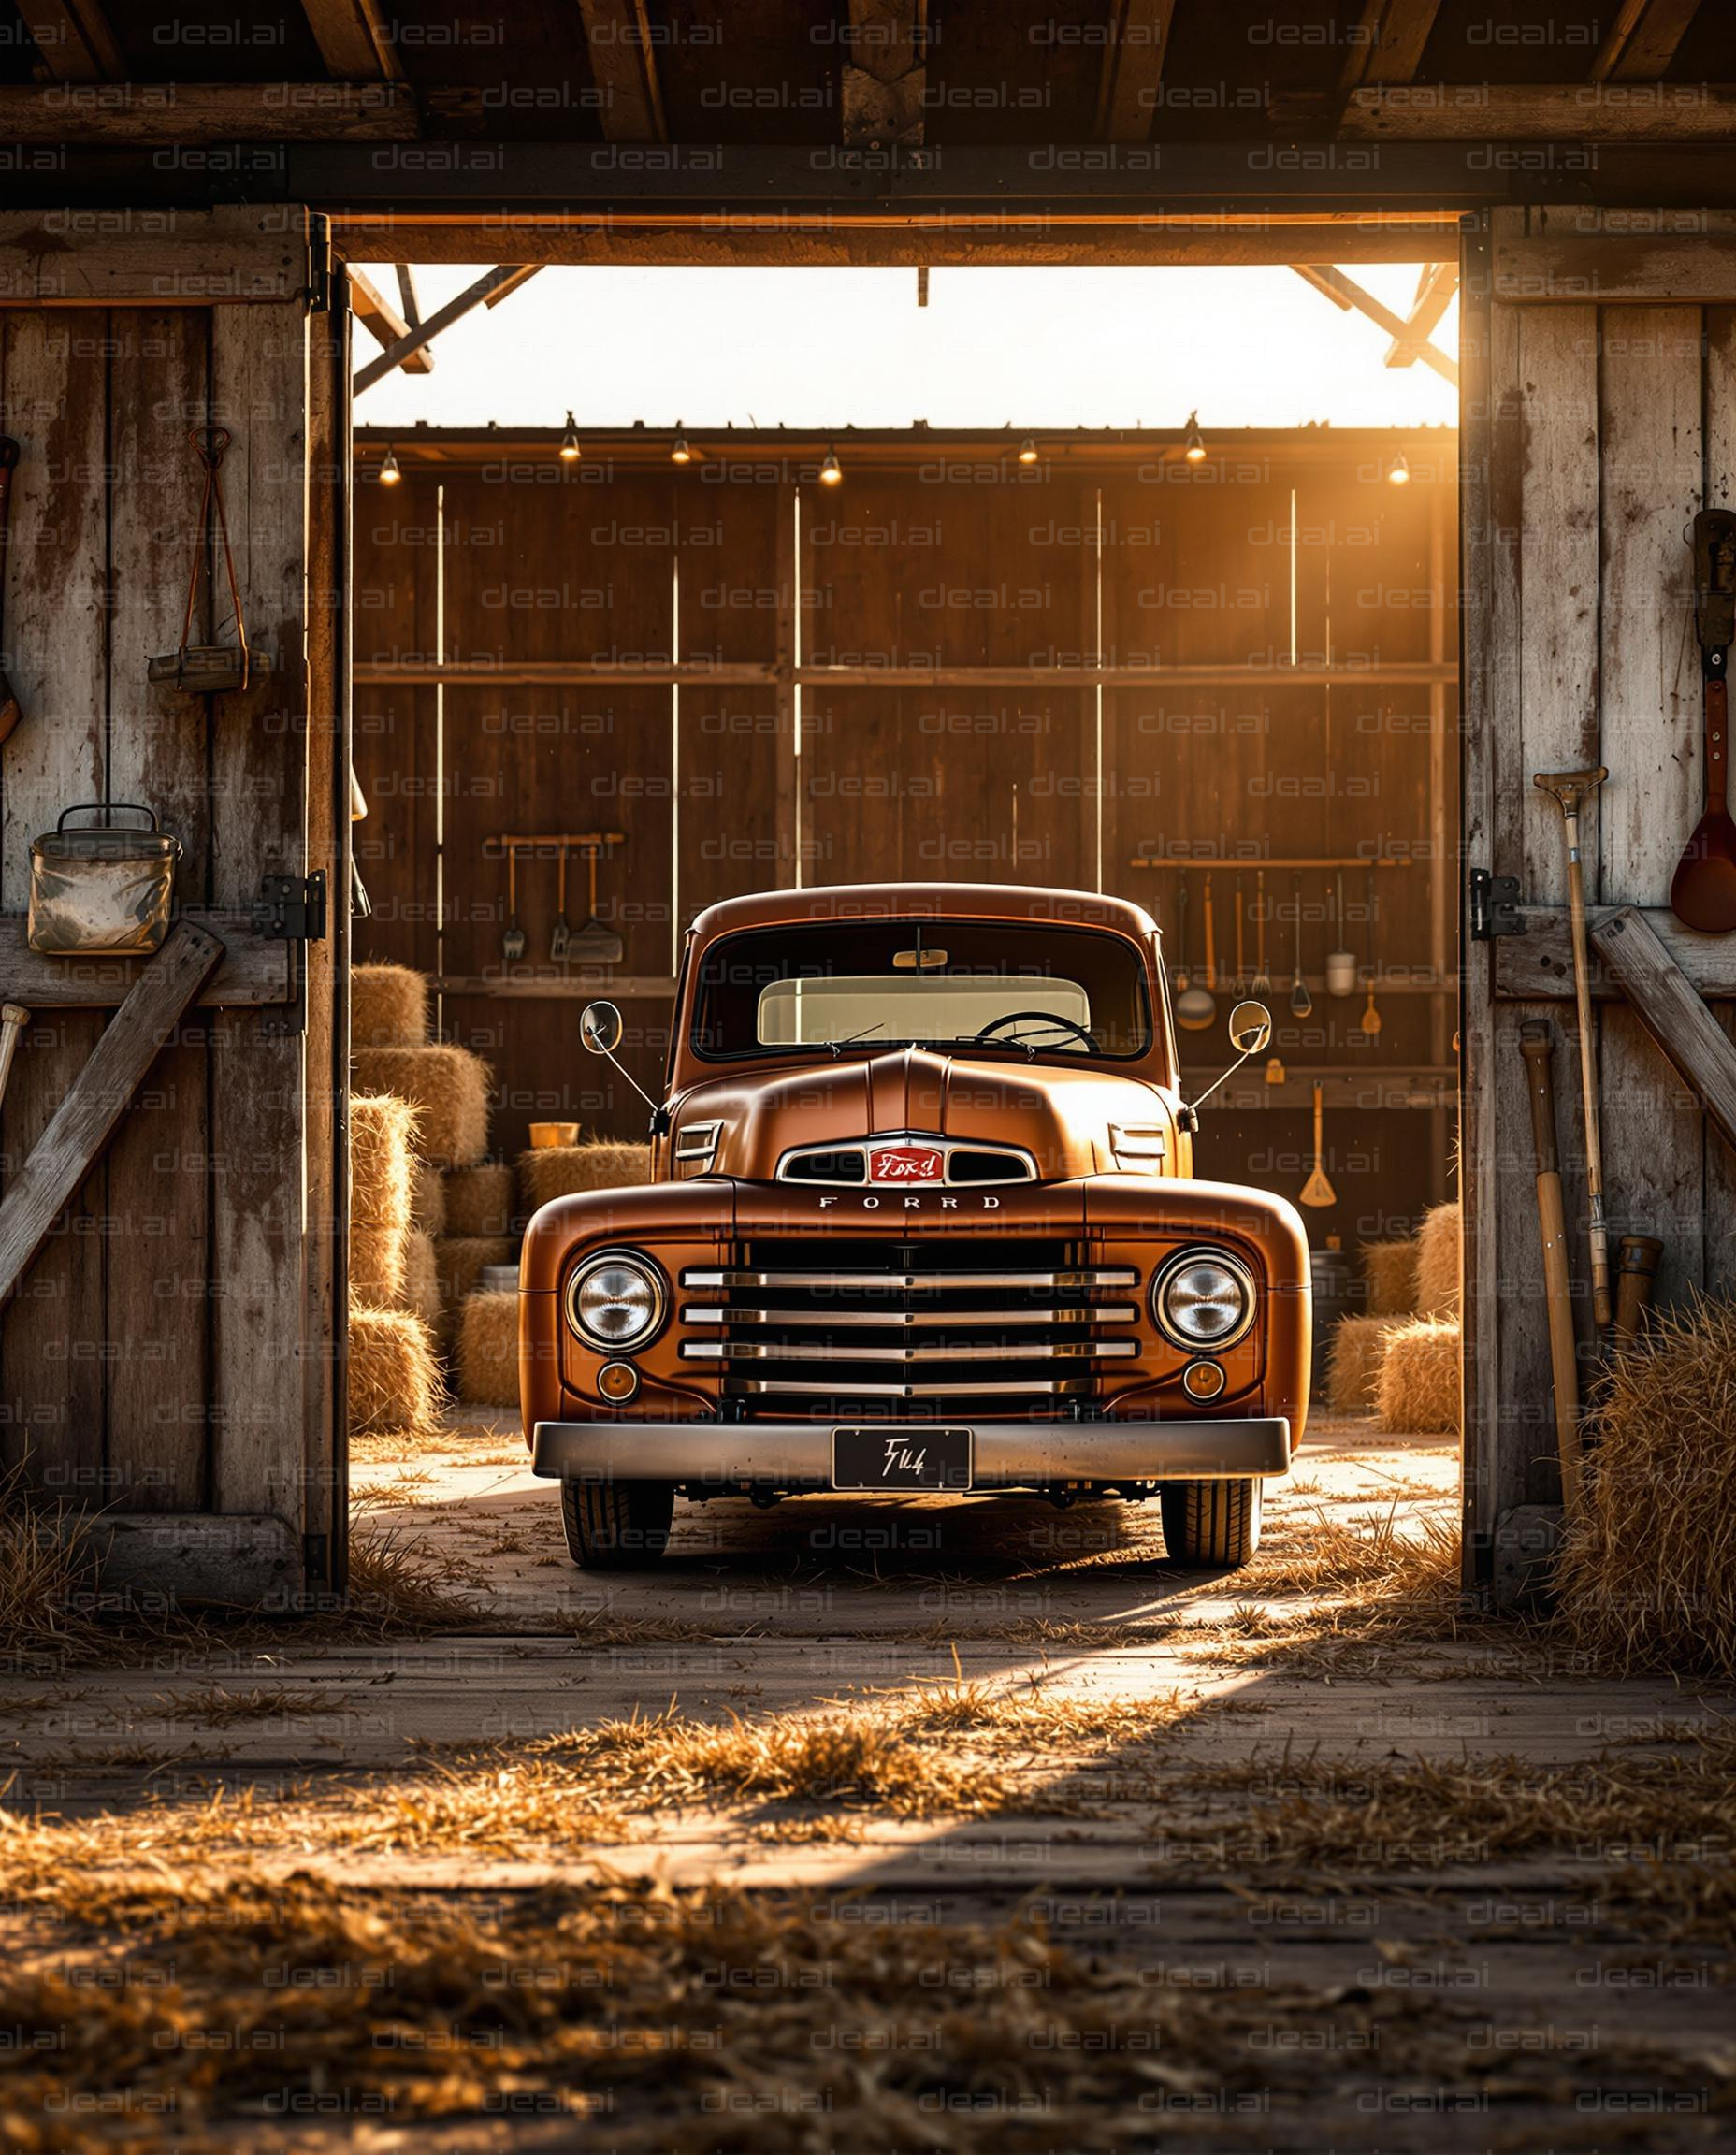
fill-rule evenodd
<path id="1" fill-rule="evenodd" d="M 47 1129 L 0 1202 L 0 1302 L 30 1269 L 50 1228 L 101 1157 L 164 1043 L 218 970 L 224 946 L 177 922 L 73 1078 Z M 30 1052 L 28 1045 L 24 1049 Z"/>

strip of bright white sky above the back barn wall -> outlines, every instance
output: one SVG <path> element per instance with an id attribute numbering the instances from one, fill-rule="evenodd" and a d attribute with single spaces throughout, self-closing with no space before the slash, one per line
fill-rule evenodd
<path id="1" fill-rule="evenodd" d="M 418 269 L 424 315 L 482 269 Z M 1350 269 L 1406 315 L 1417 269 Z M 375 282 L 396 302 L 390 269 Z M 1434 340 L 1456 349 L 1454 306 Z M 377 345 L 358 325 L 355 360 Z M 543 269 L 388 375 L 368 427 L 1454 425 L 1430 366 L 1290 269 Z"/>

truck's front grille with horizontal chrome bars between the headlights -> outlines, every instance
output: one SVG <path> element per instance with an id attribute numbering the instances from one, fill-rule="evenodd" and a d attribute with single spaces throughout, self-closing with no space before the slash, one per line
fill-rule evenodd
<path id="1" fill-rule="evenodd" d="M 750 1416 L 1060 1416 L 1139 1351 L 1139 1274 L 1073 1241 L 754 1241 L 681 1287 L 683 1360 Z"/>

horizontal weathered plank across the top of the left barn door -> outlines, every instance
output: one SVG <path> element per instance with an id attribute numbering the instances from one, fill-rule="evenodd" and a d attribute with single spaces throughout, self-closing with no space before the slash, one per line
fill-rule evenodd
<path id="1" fill-rule="evenodd" d="M 286 302 L 306 282 L 299 205 L 0 215 L 0 306 Z"/>

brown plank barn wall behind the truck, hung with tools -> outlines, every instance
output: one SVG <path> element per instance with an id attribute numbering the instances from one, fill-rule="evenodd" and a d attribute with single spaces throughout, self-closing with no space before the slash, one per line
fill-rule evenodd
<path id="1" fill-rule="evenodd" d="M 1346 875 L 1350 948 L 1381 965 L 1378 1037 L 1363 993 L 1329 1002 L 1331 877 L 1273 871 L 1269 970 L 1288 1078 L 1241 1084 L 1206 1123 L 1204 1172 L 1294 1194 L 1307 1172 L 1312 1078 L 1329 1086 L 1340 1205 L 1320 1237 L 1346 1248 L 1413 1224 L 1447 1194 L 1452 888 L 1456 828 L 1456 444 L 1406 437 L 1413 483 L 1387 483 L 1389 444 L 1249 435 L 1189 465 L 1174 442 L 1094 455 L 1062 437 L 1032 468 L 1006 442 L 842 442 L 846 481 L 812 457 L 737 435 L 687 470 L 592 444 L 459 448 L 418 429 L 396 444 L 405 485 L 358 487 L 358 767 L 370 815 L 358 856 L 375 918 L 358 955 L 444 978 L 444 1024 L 498 1069 L 495 1136 L 532 1118 L 638 1134 L 642 1106 L 584 1056 L 586 991 L 629 1011 L 642 1067 L 661 1056 L 678 929 L 713 899 L 795 879 L 881 877 L 1103 888 L 1176 931 L 1170 858 L 1215 871 L 1228 1013 L 1232 903 L 1243 879 L 1256 970 L 1258 858 L 1387 849 L 1404 868 Z M 377 450 L 373 453 L 377 457 Z M 1294 493 L 1294 634 L 1292 634 Z M 444 631 L 444 640 L 442 640 Z M 418 662 L 775 662 L 868 670 L 808 683 L 801 752 L 788 685 L 454 685 L 394 679 Z M 1286 681 L 1333 664 L 1333 687 Z M 1079 685 L 1098 657 L 1221 668 L 1232 681 Z M 1381 679 L 1434 664 L 1445 679 Z M 885 668 L 1060 668 L 989 687 L 883 685 Z M 1353 675 L 1368 675 L 1361 679 Z M 422 668 L 424 672 L 424 668 Z M 418 675 L 422 679 L 422 675 Z M 618 830 L 601 909 L 620 927 L 618 981 L 590 989 L 547 963 L 554 860 L 528 864 L 526 968 L 502 976 L 502 832 Z M 439 838 L 439 845 L 437 845 Z M 1195 965 L 1204 871 L 1189 873 Z M 1301 903 L 1301 920 L 1297 905 Z M 569 886 L 569 920 L 584 888 Z M 1294 937 L 1316 1009 L 1288 1013 Z M 625 993 L 622 993 L 625 987 Z M 1189 1034 L 1200 1082 L 1221 1026 Z"/>

